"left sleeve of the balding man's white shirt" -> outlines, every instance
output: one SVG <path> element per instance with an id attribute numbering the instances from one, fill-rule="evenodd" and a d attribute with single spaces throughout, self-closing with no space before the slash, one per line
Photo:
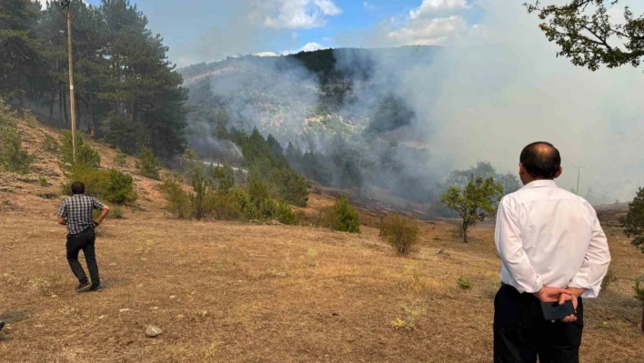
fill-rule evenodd
<path id="1" fill-rule="evenodd" d="M 516 284 L 518 292 L 535 293 L 543 287 L 543 281 L 530 264 L 528 255 L 523 249 L 521 231 L 518 227 L 516 207 L 510 205 L 508 198 L 503 198 L 498 205 L 497 228 L 494 240 L 498 256 Z"/>

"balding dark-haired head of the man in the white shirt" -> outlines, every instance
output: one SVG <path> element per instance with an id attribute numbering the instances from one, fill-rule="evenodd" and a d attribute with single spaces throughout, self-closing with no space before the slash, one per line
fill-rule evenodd
<path id="1" fill-rule="evenodd" d="M 538 141 L 523 148 L 520 162 L 530 176 L 554 179 L 561 166 L 561 156 L 557 147 Z"/>

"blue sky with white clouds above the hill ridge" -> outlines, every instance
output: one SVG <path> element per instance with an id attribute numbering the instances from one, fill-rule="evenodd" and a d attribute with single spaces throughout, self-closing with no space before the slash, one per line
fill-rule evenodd
<path id="1" fill-rule="evenodd" d="M 45 3 L 46 0 L 40 0 Z M 99 5 L 100 0 L 85 0 Z M 131 0 L 177 66 L 329 47 L 444 45 L 476 25 L 471 0 Z"/>

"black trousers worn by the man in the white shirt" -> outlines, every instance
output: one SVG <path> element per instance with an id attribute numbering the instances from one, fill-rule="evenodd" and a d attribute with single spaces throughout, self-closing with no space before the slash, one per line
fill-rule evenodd
<path id="1" fill-rule="evenodd" d="M 494 299 L 494 362 L 578 363 L 583 317 L 579 298 L 576 322 L 552 323 L 537 297 L 503 285 Z"/>

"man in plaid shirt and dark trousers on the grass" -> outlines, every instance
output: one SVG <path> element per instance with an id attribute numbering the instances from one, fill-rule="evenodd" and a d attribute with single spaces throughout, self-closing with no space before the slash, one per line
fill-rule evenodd
<path id="1" fill-rule="evenodd" d="M 67 226 L 67 261 L 72 272 L 78 278 L 78 292 L 98 291 L 101 281 L 98 277 L 98 265 L 94 243 L 96 241 L 95 228 L 103 222 L 109 213 L 109 207 L 99 202 L 95 197 L 85 196 L 85 185 L 80 182 L 72 184 L 72 197 L 65 199 L 58 212 L 58 223 Z M 94 209 L 101 210 L 101 216 L 94 220 Z M 90 285 L 85 270 L 78 262 L 78 253 L 83 250 L 87 262 L 89 276 L 92 278 Z"/>

